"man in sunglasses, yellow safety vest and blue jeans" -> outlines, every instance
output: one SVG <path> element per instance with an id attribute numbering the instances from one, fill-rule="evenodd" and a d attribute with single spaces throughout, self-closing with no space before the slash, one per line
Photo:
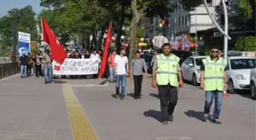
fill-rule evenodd
<path id="1" fill-rule="evenodd" d="M 224 58 L 219 58 L 218 47 L 213 46 L 210 57 L 204 59 L 200 67 L 200 88 L 204 89 L 206 98 L 203 114 L 204 122 L 209 117 L 210 107 L 213 103 L 213 98 L 215 98 L 213 123 L 221 124 L 219 114 L 222 106 L 222 92 L 228 89 L 226 65 L 227 61 Z"/>

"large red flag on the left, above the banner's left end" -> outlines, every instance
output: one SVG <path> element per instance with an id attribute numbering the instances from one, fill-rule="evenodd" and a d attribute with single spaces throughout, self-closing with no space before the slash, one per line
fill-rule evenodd
<path id="1" fill-rule="evenodd" d="M 46 20 L 41 17 L 42 22 L 42 31 L 43 31 L 43 41 L 48 43 L 51 48 L 51 58 L 58 62 L 59 64 L 62 64 L 63 61 L 65 61 L 67 54 L 62 45 L 59 43 L 59 40 L 56 39 L 56 36 L 54 35 L 53 31 L 50 29 L 50 26 L 48 23 L 46 23 Z"/>

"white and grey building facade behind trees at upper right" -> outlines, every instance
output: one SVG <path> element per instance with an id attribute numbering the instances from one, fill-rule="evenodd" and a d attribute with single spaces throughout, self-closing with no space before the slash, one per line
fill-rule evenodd
<path id="1" fill-rule="evenodd" d="M 218 20 L 219 15 L 216 13 L 216 7 L 220 5 L 221 0 L 206 0 L 206 2 L 213 18 Z M 168 25 L 163 25 L 160 17 L 142 19 L 142 24 L 146 25 L 146 36 L 152 39 L 158 33 L 164 33 L 172 42 L 174 36 L 176 36 L 175 39 L 181 39 L 183 35 L 196 36 L 195 34 L 198 31 L 215 28 L 204 4 L 194 8 L 193 11 L 185 11 L 182 5 L 177 5 L 177 8 L 170 15 L 168 17 Z"/>

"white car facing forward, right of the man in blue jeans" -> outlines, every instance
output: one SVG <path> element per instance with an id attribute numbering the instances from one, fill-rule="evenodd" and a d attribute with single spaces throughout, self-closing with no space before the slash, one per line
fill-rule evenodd
<path id="1" fill-rule="evenodd" d="M 229 92 L 250 89 L 250 73 L 256 68 L 256 58 L 234 56 L 228 58 L 227 73 Z"/>

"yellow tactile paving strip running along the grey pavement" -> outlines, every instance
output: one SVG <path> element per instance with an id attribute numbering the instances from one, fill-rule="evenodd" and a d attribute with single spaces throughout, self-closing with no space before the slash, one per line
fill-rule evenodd
<path id="1" fill-rule="evenodd" d="M 74 140 L 97 140 L 69 81 L 62 83 L 62 89 Z"/>

